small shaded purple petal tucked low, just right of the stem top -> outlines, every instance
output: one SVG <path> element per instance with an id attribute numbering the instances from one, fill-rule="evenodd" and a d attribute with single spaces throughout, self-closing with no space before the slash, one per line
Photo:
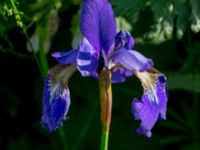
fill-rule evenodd
<path id="1" fill-rule="evenodd" d="M 133 73 L 124 69 L 124 68 L 119 68 L 112 73 L 112 83 L 122 83 L 126 80 L 127 77 L 132 76 Z"/>

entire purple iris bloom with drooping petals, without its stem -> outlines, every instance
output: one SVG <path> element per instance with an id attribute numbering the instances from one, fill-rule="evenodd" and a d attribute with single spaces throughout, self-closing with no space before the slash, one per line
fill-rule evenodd
<path id="1" fill-rule="evenodd" d="M 132 101 L 132 114 L 141 120 L 139 134 L 151 136 L 158 119 L 166 118 L 167 81 L 153 61 L 133 50 L 134 38 L 125 30 L 116 32 L 116 22 L 108 0 L 83 0 L 80 16 L 83 39 L 77 49 L 54 52 L 59 64 L 49 70 L 43 91 L 42 125 L 49 132 L 61 127 L 70 106 L 68 80 L 75 71 L 83 77 L 100 78 L 103 70 L 112 83 L 135 75 L 142 83 L 141 100 Z M 106 80 L 106 79 L 105 79 Z"/>

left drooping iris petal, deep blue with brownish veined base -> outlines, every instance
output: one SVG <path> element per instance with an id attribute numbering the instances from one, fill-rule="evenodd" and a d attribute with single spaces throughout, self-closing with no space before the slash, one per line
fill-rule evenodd
<path id="1" fill-rule="evenodd" d="M 49 132 L 59 128 L 68 113 L 70 93 L 67 82 L 74 71 L 74 65 L 57 65 L 48 72 L 43 90 L 41 123 Z"/>

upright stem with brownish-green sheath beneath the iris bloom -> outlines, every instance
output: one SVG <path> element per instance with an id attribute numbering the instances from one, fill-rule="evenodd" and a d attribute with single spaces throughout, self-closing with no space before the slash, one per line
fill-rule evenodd
<path id="1" fill-rule="evenodd" d="M 101 150 L 108 149 L 109 129 L 112 112 L 112 88 L 111 73 L 108 69 L 103 69 L 99 74 L 99 93 L 101 104 Z"/>

